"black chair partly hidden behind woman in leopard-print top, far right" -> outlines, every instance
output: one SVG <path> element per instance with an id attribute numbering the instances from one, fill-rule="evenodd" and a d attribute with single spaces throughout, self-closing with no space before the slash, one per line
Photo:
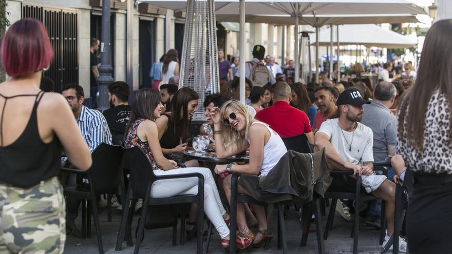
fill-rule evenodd
<path id="1" fill-rule="evenodd" d="M 409 205 L 409 194 L 413 188 L 413 175 L 409 168 L 405 171 L 404 181 L 400 181 L 396 184 L 396 206 L 394 207 L 394 233 L 389 239 L 386 246 L 383 247 L 381 253 L 385 253 L 389 250 L 392 244 L 392 253 L 399 253 L 399 235 L 401 222 L 405 219 L 405 212 Z"/>

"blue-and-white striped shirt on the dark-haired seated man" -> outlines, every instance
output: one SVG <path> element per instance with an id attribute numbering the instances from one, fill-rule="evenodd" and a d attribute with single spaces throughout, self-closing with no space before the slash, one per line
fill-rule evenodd
<path id="1" fill-rule="evenodd" d="M 77 124 L 91 153 L 101 143 L 111 145 L 110 129 L 107 120 L 100 111 L 82 106 Z"/>

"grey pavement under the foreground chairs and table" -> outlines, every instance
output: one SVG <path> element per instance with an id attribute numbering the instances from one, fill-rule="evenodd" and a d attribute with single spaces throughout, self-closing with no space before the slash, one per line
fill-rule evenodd
<path id="1" fill-rule="evenodd" d="M 122 251 L 115 251 L 115 244 L 117 238 L 117 231 L 119 229 L 119 222 L 121 215 L 119 213 L 115 214 L 112 222 L 107 222 L 107 212 L 105 209 L 100 210 L 100 224 L 102 231 L 102 240 L 104 245 L 105 253 L 133 253 L 134 247 L 127 247 L 126 243 L 123 243 Z M 80 217 L 80 216 L 79 216 Z M 80 218 L 79 218 L 80 219 Z M 326 217 L 323 217 L 323 227 L 325 227 Z M 138 216 L 134 217 L 133 230 L 135 231 Z M 274 220 L 275 221 L 275 220 Z M 80 227 L 80 220 L 76 221 L 76 224 Z M 345 254 L 352 253 L 353 239 L 350 238 L 350 232 L 353 223 L 347 222 L 342 219 L 337 213 L 334 219 L 333 230 L 330 231 L 328 240 L 325 241 L 325 250 L 327 253 L 334 254 Z M 273 225 L 275 228 L 275 225 Z M 317 241 L 315 232 L 309 234 L 308 244 L 306 247 L 300 247 L 301 239 L 301 229 L 300 222 L 298 219 L 298 213 L 295 211 L 289 211 L 286 220 L 286 228 L 288 235 L 288 249 L 289 253 L 299 253 L 299 254 L 311 254 L 317 253 Z M 314 229 L 315 225 L 311 226 Z M 79 239 L 72 236 L 67 237 L 66 247 L 64 253 L 66 254 L 79 254 L 79 253 L 98 253 L 96 233 L 94 225 L 91 226 L 92 237 L 91 239 Z M 178 227 L 179 233 L 179 227 Z M 359 253 L 363 254 L 376 254 L 380 253 L 381 245 L 378 240 L 378 230 L 366 227 L 364 223 L 360 226 L 360 238 L 359 238 Z M 134 239 L 135 241 L 135 239 Z M 180 245 L 178 241 L 177 246 L 172 246 L 172 229 L 154 229 L 145 230 L 145 238 L 140 247 L 140 253 L 195 253 L 196 252 L 196 242 L 186 242 L 185 245 Z M 213 235 L 209 253 L 211 254 L 224 254 L 224 250 L 220 246 L 220 241 L 218 234 Z M 241 253 L 245 253 L 241 251 Z M 282 253 L 276 247 L 276 236 L 272 239 L 270 243 L 270 248 L 268 250 L 263 249 L 253 249 L 252 253 Z"/>

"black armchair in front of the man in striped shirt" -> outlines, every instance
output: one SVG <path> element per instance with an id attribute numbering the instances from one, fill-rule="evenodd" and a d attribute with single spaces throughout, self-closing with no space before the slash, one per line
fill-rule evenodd
<path id="1" fill-rule="evenodd" d="M 97 197 L 100 194 L 121 194 L 125 196 L 124 179 L 122 173 L 123 150 L 120 146 L 100 144 L 92 152 L 92 165 L 88 171 L 79 169 L 62 168 L 62 171 L 79 174 L 83 183 L 89 183 L 89 187 L 65 186 L 64 195 L 82 199 L 82 233 L 85 237 L 91 236 L 91 214 L 96 226 L 99 253 L 103 253 L 102 235 L 99 225 L 99 213 L 97 210 Z M 122 199 L 124 200 L 124 199 Z M 87 203 L 87 204 L 86 204 Z"/>

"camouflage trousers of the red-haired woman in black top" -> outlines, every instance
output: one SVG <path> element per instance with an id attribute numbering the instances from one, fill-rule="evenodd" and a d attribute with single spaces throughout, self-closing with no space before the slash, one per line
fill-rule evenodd
<path id="1" fill-rule="evenodd" d="M 56 177 L 27 189 L 0 182 L 0 253 L 63 253 L 65 207 Z"/>

